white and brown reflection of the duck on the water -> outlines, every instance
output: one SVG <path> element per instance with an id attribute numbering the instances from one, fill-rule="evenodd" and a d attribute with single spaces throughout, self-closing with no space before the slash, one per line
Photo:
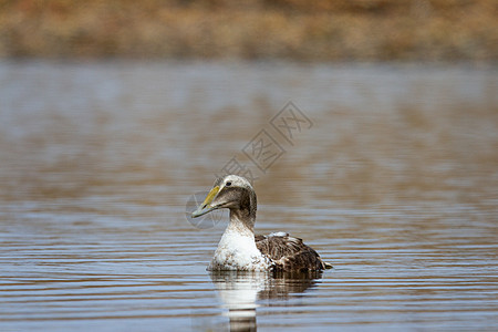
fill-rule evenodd
<path id="1" fill-rule="evenodd" d="M 230 331 L 256 331 L 258 300 L 286 300 L 313 287 L 321 271 L 259 272 L 211 271 L 222 308 L 228 309 Z"/>

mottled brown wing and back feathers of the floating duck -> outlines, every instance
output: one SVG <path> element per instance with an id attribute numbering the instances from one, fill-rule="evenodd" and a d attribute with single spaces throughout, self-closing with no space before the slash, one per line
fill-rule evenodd
<path id="1" fill-rule="evenodd" d="M 277 271 L 317 271 L 330 266 L 301 239 L 286 236 L 256 236 L 256 247 L 268 256 Z"/>

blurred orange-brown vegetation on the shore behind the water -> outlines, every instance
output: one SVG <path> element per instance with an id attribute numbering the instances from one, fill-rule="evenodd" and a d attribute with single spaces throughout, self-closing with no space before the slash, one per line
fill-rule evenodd
<path id="1" fill-rule="evenodd" d="M 496 0 L 0 0 L 0 58 L 498 60 Z"/>

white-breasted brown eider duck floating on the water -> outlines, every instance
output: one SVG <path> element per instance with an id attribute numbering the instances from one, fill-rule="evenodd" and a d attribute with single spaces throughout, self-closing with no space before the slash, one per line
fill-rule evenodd
<path id="1" fill-rule="evenodd" d="M 200 217 L 221 208 L 230 210 L 230 222 L 208 270 L 293 272 L 332 268 L 301 239 L 287 232 L 255 236 L 256 193 L 246 178 L 238 175 L 218 178 L 191 216 Z"/>

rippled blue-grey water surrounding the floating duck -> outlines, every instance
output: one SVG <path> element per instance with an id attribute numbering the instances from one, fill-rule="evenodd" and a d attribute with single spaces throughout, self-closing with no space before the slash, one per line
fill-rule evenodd
<path id="1" fill-rule="evenodd" d="M 497 91 L 495 68 L 2 62 L 0 330 L 496 330 Z M 227 215 L 186 203 L 230 160 L 257 230 L 334 269 L 206 271 Z"/>

